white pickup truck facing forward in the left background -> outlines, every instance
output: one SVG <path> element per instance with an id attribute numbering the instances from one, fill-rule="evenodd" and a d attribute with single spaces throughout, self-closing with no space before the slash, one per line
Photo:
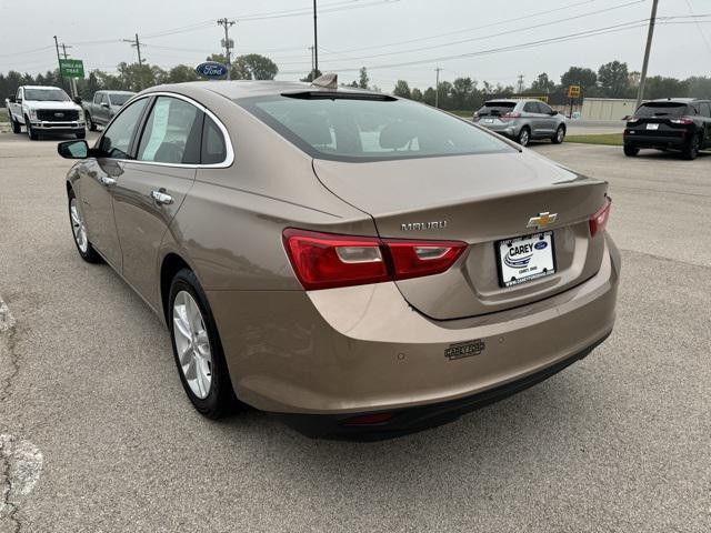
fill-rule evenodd
<path id="1" fill-rule="evenodd" d="M 16 95 L 6 99 L 12 131 L 22 127 L 33 141 L 40 134 L 73 133 L 77 139 L 87 135 L 84 112 L 58 87 L 22 86 Z"/>

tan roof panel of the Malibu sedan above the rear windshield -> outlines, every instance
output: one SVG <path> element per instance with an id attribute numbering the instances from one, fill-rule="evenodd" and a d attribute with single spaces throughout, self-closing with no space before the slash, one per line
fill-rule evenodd
<path id="1" fill-rule="evenodd" d="M 176 91 L 181 92 L 181 88 L 196 88 L 222 94 L 230 100 L 238 100 L 248 97 L 267 97 L 281 94 L 284 92 L 313 91 L 313 92 L 343 92 L 343 93 L 365 93 L 382 94 L 377 91 L 357 89 L 354 87 L 326 88 L 312 86 L 301 81 L 276 81 L 276 80 L 234 80 L 234 81 L 189 81 L 186 83 L 171 83 L 150 88 L 147 92 Z"/>

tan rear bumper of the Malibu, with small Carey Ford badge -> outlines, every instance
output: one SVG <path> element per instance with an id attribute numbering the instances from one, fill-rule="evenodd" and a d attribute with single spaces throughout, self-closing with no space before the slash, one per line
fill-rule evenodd
<path id="1" fill-rule="evenodd" d="M 612 330 L 619 270 L 608 237 L 599 272 L 583 283 L 450 321 L 414 311 L 394 283 L 208 299 L 240 400 L 338 419 L 468 399 L 574 359 Z"/>

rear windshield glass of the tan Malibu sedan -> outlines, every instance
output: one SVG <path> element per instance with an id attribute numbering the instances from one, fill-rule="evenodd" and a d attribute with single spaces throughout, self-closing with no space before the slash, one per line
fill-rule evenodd
<path id="1" fill-rule="evenodd" d="M 408 100 L 274 95 L 238 103 L 318 159 L 362 162 L 515 151 L 471 122 Z"/>

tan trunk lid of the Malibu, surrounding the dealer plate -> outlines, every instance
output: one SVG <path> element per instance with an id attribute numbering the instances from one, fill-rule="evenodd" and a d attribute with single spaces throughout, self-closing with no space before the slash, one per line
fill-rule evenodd
<path id="1" fill-rule="evenodd" d="M 549 298 L 593 275 L 603 237 L 590 217 L 607 182 L 578 175 L 529 152 L 349 163 L 316 159 L 319 180 L 369 213 L 381 238 L 459 240 L 465 253 L 441 274 L 398 281 L 408 302 L 434 319 L 501 311 Z M 555 272 L 503 286 L 497 243 L 537 233 L 531 218 L 551 213 Z M 554 221 L 552 214 L 555 214 Z"/>

